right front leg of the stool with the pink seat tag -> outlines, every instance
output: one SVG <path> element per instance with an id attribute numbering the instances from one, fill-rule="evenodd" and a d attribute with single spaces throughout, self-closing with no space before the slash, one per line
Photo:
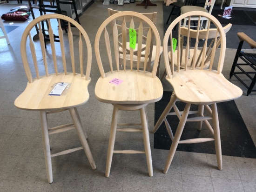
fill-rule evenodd
<path id="1" fill-rule="evenodd" d="M 149 133 L 148 133 L 148 122 L 145 113 L 145 107 L 140 109 L 141 113 L 141 126 L 143 132 L 143 141 L 145 146 L 146 158 L 147 158 L 147 165 L 148 165 L 148 173 L 149 176 L 153 176 L 153 166 L 152 166 L 152 158 L 151 158 L 151 150 L 150 150 L 150 142 L 149 142 Z"/>

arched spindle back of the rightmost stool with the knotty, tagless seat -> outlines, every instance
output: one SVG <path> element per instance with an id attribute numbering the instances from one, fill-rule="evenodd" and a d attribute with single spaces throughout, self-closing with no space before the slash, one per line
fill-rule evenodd
<path id="1" fill-rule="evenodd" d="M 205 17 L 209 20 L 208 28 L 205 30 L 200 30 L 200 22 L 198 22 L 197 30 L 191 29 L 190 25 L 190 18 L 193 16 L 198 16 L 199 20 L 201 17 Z M 188 17 L 188 27 L 181 27 L 181 22 L 184 18 Z M 178 24 L 178 35 L 173 34 L 175 33 L 172 29 Z M 212 25 L 210 25 L 212 24 Z M 210 26 L 213 29 L 210 29 Z M 203 33 L 202 33 L 203 32 Z M 186 34 L 186 36 L 185 36 Z M 199 35 L 200 34 L 200 35 Z M 173 38 L 177 37 L 177 46 L 176 50 L 173 49 Z M 214 37 L 213 43 L 211 45 L 211 48 L 208 49 L 208 39 L 209 37 Z M 183 45 L 179 42 L 181 42 L 184 38 L 187 38 L 186 45 L 183 48 Z M 200 39 L 205 39 L 204 46 L 202 46 L 202 52 L 200 55 L 197 55 L 198 47 L 198 41 Z M 192 40 L 194 42 L 194 47 L 192 45 Z M 168 46 L 168 41 L 170 42 L 171 46 Z M 220 54 L 216 54 L 217 47 L 220 46 Z M 171 79 L 172 74 L 179 73 L 180 66 L 182 60 L 181 58 L 182 50 L 185 49 L 185 64 L 184 64 L 184 70 L 195 70 L 197 65 L 200 65 L 199 69 L 204 69 L 204 62 L 209 59 L 208 52 L 211 51 L 210 54 L 210 64 L 209 64 L 209 71 L 217 70 L 217 73 L 220 74 L 222 72 L 223 68 L 223 62 L 224 62 L 224 56 L 226 51 L 226 38 L 225 38 L 225 31 L 223 27 L 221 26 L 220 22 L 211 14 L 200 12 L 200 11 L 193 11 L 189 13 L 184 13 L 178 18 L 176 18 L 171 25 L 168 27 L 164 40 L 163 40 L 163 54 L 164 54 L 164 62 L 165 67 L 167 71 L 168 78 Z M 193 49 L 194 53 L 193 55 L 190 54 L 190 50 Z M 174 53 L 174 52 L 177 53 Z M 168 58 L 168 52 L 170 52 L 170 64 L 169 65 L 169 58 Z M 177 71 L 174 72 L 174 66 L 175 66 L 175 57 L 174 55 L 177 54 Z M 184 53 L 183 53 L 184 54 Z M 189 60 L 192 60 L 191 66 L 189 66 Z M 201 64 L 198 64 L 197 61 L 200 60 Z M 216 61 L 217 65 L 214 66 L 214 61 Z M 197 63 L 197 64 L 196 64 Z M 206 69 L 205 69 L 206 70 Z"/>

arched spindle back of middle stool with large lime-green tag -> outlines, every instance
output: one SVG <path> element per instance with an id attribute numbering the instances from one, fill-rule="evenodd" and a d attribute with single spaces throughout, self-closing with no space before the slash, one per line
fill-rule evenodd
<path id="1" fill-rule="evenodd" d="M 121 22 L 118 23 L 119 21 Z M 136 30 L 136 42 L 134 42 L 136 43 L 135 49 L 129 47 L 129 28 Z M 146 32 L 144 31 L 145 28 L 147 28 Z M 121 37 L 121 40 L 119 37 Z M 100 41 L 101 38 L 104 39 L 103 43 Z M 103 46 L 103 44 L 105 45 Z M 153 45 L 156 46 L 156 51 L 154 53 L 152 52 Z M 152 54 L 155 54 L 155 61 L 152 68 L 152 77 L 155 77 L 160 55 L 161 42 L 159 33 L 154 23 L 145 15 L 131 11 L 124 11 L 113 14 L 101 24 L 95 37 L 94 46 L 96 60 L 98 62 L 102 78 L 105 77 L 105 72 L 101 58 L 104 58 L 104 56 L 105 58 L 108 58 L 108 63 L 110 66 L 110 70 L 108 71 L 113 72 L 113 70 L 116 70 L 119 72 L 120 53 L 123 54 L 122 64 L 124 71 L 139 71 L 141 68 L 140 61 L 142 56 L 145 57 L 143 71 L 146 71 L 147 63 L 149 63 L 148 61 L 151 60 Z M 141 52 L 143 52 L 143 55 Z M 128 61 L 130 62 L 130 68 L 128 68 L 126 65 L 127 55 L 130 57 Z M 134 57 L 136 57 L 136 61 L 134 61 Z M 114 62 L 116 65 L 114 65 Z M 134 62 L 137 64 L 135 68 L 133 67 Z"/>

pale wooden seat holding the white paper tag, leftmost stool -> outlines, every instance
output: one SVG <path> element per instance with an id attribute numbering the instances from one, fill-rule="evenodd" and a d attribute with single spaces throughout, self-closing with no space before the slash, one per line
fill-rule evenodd
<path id="1" fill-rule="evenodd" d="M 71 83 L 66 94 L 49 95 L 52 86 L 58 82 Z M 80 106 L 89 99 L 89 83 L 90 80 L 85 80 L 85 76 L 81 78 L 80 74 L 59 73 L 58 76 L 42 76 L 40 79 L 34 79 L 33 83 L 27 83 L 25 91 L 15 99 L 14 105 L 24 110 L 44 111 Z"/>

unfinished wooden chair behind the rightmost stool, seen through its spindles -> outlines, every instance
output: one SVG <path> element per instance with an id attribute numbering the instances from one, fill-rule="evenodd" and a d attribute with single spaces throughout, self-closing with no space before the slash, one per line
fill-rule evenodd
<path id="1" fill-rule="evenodd" d="M 230 24 L 230 23 L 228 25 L 224 26 L 223 27 L 224 32 L 225 33 L 229 32 L 229 29 L 231 28 L 231 26 L 232 26 L 232 24 Z M 214 41 L 215 41 L 215 38 L 216 38 L 217 29 L 209 29 L 209 33 L 207 33 L 207 32 L 208 32 L 207 29 L 200 30 L 199 33 L 198 33 L 198 41 L 195 42 L 196 35 L 197 35 L 197 30 L 190 29 L 189 33 L 188 33 L 188 27 L 184 27 L 184 26 L 181 27 L 181 39 L 180 39 L 179 43 L 180 43 L 180 47 L 185 47 L 185 49 L 182 48 L 182 51 L 180 52 L 179 57 L 178 57 L 178 51 L 174 52 L 174 65 L 175 65 L 175 67 L 177 67 L 178 58 L 179 58 L 181 69 L 185 68 L 185 62 L 186 61 L 188 62 L 187 67 L 192 68 L 193 61 L 194 61 L 194 48 L 193 47 L 195 47 L 195 44 L 198 48 L 197 51 L 196 51 L 197 60 L 195 62 L 195 67 L 200 68 L 201 65 L 202 65 L 202 57 L 201 56 L 202 56 L 202 53 L 203 53 L 203 50 L 204 50 L 204 46 L 206 46 L 207 49 L 206 49 L 206 59 L 203 62 L 203 68 L 206 69 L 206 68 L 209 67 L 211 54 L 213 52 Z M 221 44 L 219 33 L 217 34 L 217 36 L 218 36 L 218 38 L 217 38 L 215 51 Z M 188 39 L 188 37 L 189 37 L 189 39 Z M 206 38 L 208 39 L 208 41 L 204 41 Z M 185 39 L 185 42 L 184 42 L 184 39 Z M 192 43 L 191 43 L 191 39 L 194 40 Z M 202 47 L 199 48 L 199 46 L 200 46 L 199 43 L 200 42 L 201 42 L 201 44 L 202 44 L 202 42 L 204 42 L 204 43 L 202 44 Z M 189 47 L 191 47 L 189 49 L 189 58 L 188 58 L 188 60 L 186 60 L 186 54 L 185 54 L 186 53 L 186 43 L 189 43 Z M 207 45 L 207 44 L 209 44 L 209 45 Z M 169 57 L 169 62 L 171 63 L 171 52 L 168 52 L 168 57 Z M 161 81 L 165 76 L 166 76 L 166 70 L 164 70 L 164 73 L 161 77 Z"/>

